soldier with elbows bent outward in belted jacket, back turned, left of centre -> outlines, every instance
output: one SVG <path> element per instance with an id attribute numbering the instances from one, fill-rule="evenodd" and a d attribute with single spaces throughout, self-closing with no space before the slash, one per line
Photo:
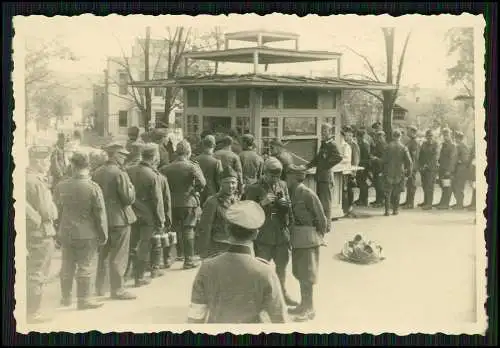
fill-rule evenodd
<path id="1" fill-rule="evenodd" d="M 206 185 L 200 167 L 189 160 L 191 146 L 186 140 L 177 144 L 177 158 L 160 172 L 168 179 L 172 195 L 172 222 L 177 232 L 177 256 L 184 256 L 184 269 L 195 268 L 194 228 L 199 218 L 200 192 Z M 179 255 L 183 252 L 183 255 Z"/>

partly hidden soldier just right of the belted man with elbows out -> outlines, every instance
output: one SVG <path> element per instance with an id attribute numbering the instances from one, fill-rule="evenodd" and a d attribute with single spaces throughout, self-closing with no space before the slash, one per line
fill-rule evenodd
<path id="1" fill-rule="evenodd" d="M 203 138 L 201 144 L 203 152 L 195 158 L 195 162 L 200 166 L 207 181 L 207 185 L 200 195 L 200 203 L 203 206 L 208 197 L 215 195 L 219 191 L 222 163 L 214 156 L 215 137 L 213 135 L 207 135 Z"/>

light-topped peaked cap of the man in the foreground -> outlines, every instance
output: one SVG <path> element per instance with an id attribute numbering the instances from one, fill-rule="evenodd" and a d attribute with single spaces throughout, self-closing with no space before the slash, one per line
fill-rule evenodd
<path id="1" fill-rule="evenodd" d="M 264 224 L 266 214 L 262 207 L 250 200 L 239 201 L 231 205 L 225 214 L 226 220 L 248 230 L 256 230 Z"/>

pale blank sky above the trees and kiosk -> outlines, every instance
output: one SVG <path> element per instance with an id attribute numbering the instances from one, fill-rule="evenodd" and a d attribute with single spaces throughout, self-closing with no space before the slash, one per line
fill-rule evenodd
<path id="1" fill-rule="evenodd" d="M 471 16 L 472 17 L 472 16 Z M 465 23 L 465 24 L 464 24 Z M 469 22 L 470 23 L 470 18 Z M 320 17 L 310 15 L 273 14 L 258 15 L 221 15 L 221 16 L 119 16 L 97 17 L 82 15 L 78 17 L 30 16 L 16 18 L 16 36 L 35 36 L 43 40 L 58 37 L 79 58 L 77 62 L 58 61 L 54 69 L 68 74 L 100 74 L 105 69 L 108 56 L 121 56 L 121 49 L 129 52 L 136 37 L 144 37 L 145 27 L 151 27 L 152 38 L 161 38 L 166 27 L 177 25 L 190 26 L 198 32 L 207 32 L 220 26 L 223 32 L 242 30 L 278 30 L 300 35 L 301 50 L 321 50 L 343 53 L 343 74 L 367 74 L 363 60 L 346 46 L 369 57 L 377 69 L 383 71 L 385 51 L 381 25 L 396 28 L 395 58 L 399 61 L 406 34 L 412 30 L 408 46 L 404 73 L 401 83 L 421 88 L 446 88 L 446 68 L 453 59 L 447 56 L 445 33 L 451 27 L 467 26 L 463 17 L 451 15 L 403 17 L 339 15 Z M 292 43 L 288 43 L 292 45 Z M 286 45 L 286 43 L 283 43 Z M 281 44 L 277 47 L 286 47 Z M 291 47 L 291 46 L 289 46 Z M 334 62 L 300 63 L 290 66 L 272 67 L 276 73 L 295 73 L 308 75 L 310 70 L 326 70 Z M 247 72 L 245 65 L 224 65 L 224 73 Z"/>

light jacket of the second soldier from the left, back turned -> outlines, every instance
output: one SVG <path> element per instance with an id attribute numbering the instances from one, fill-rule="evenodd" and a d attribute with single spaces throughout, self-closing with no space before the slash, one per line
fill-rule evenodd
<path id="1" fill-rule="evenodd" d="M 105 239 L 108 219 L 102 190 L 86 174 L 76 173 L 54 190 L 62 240 Z"/>

